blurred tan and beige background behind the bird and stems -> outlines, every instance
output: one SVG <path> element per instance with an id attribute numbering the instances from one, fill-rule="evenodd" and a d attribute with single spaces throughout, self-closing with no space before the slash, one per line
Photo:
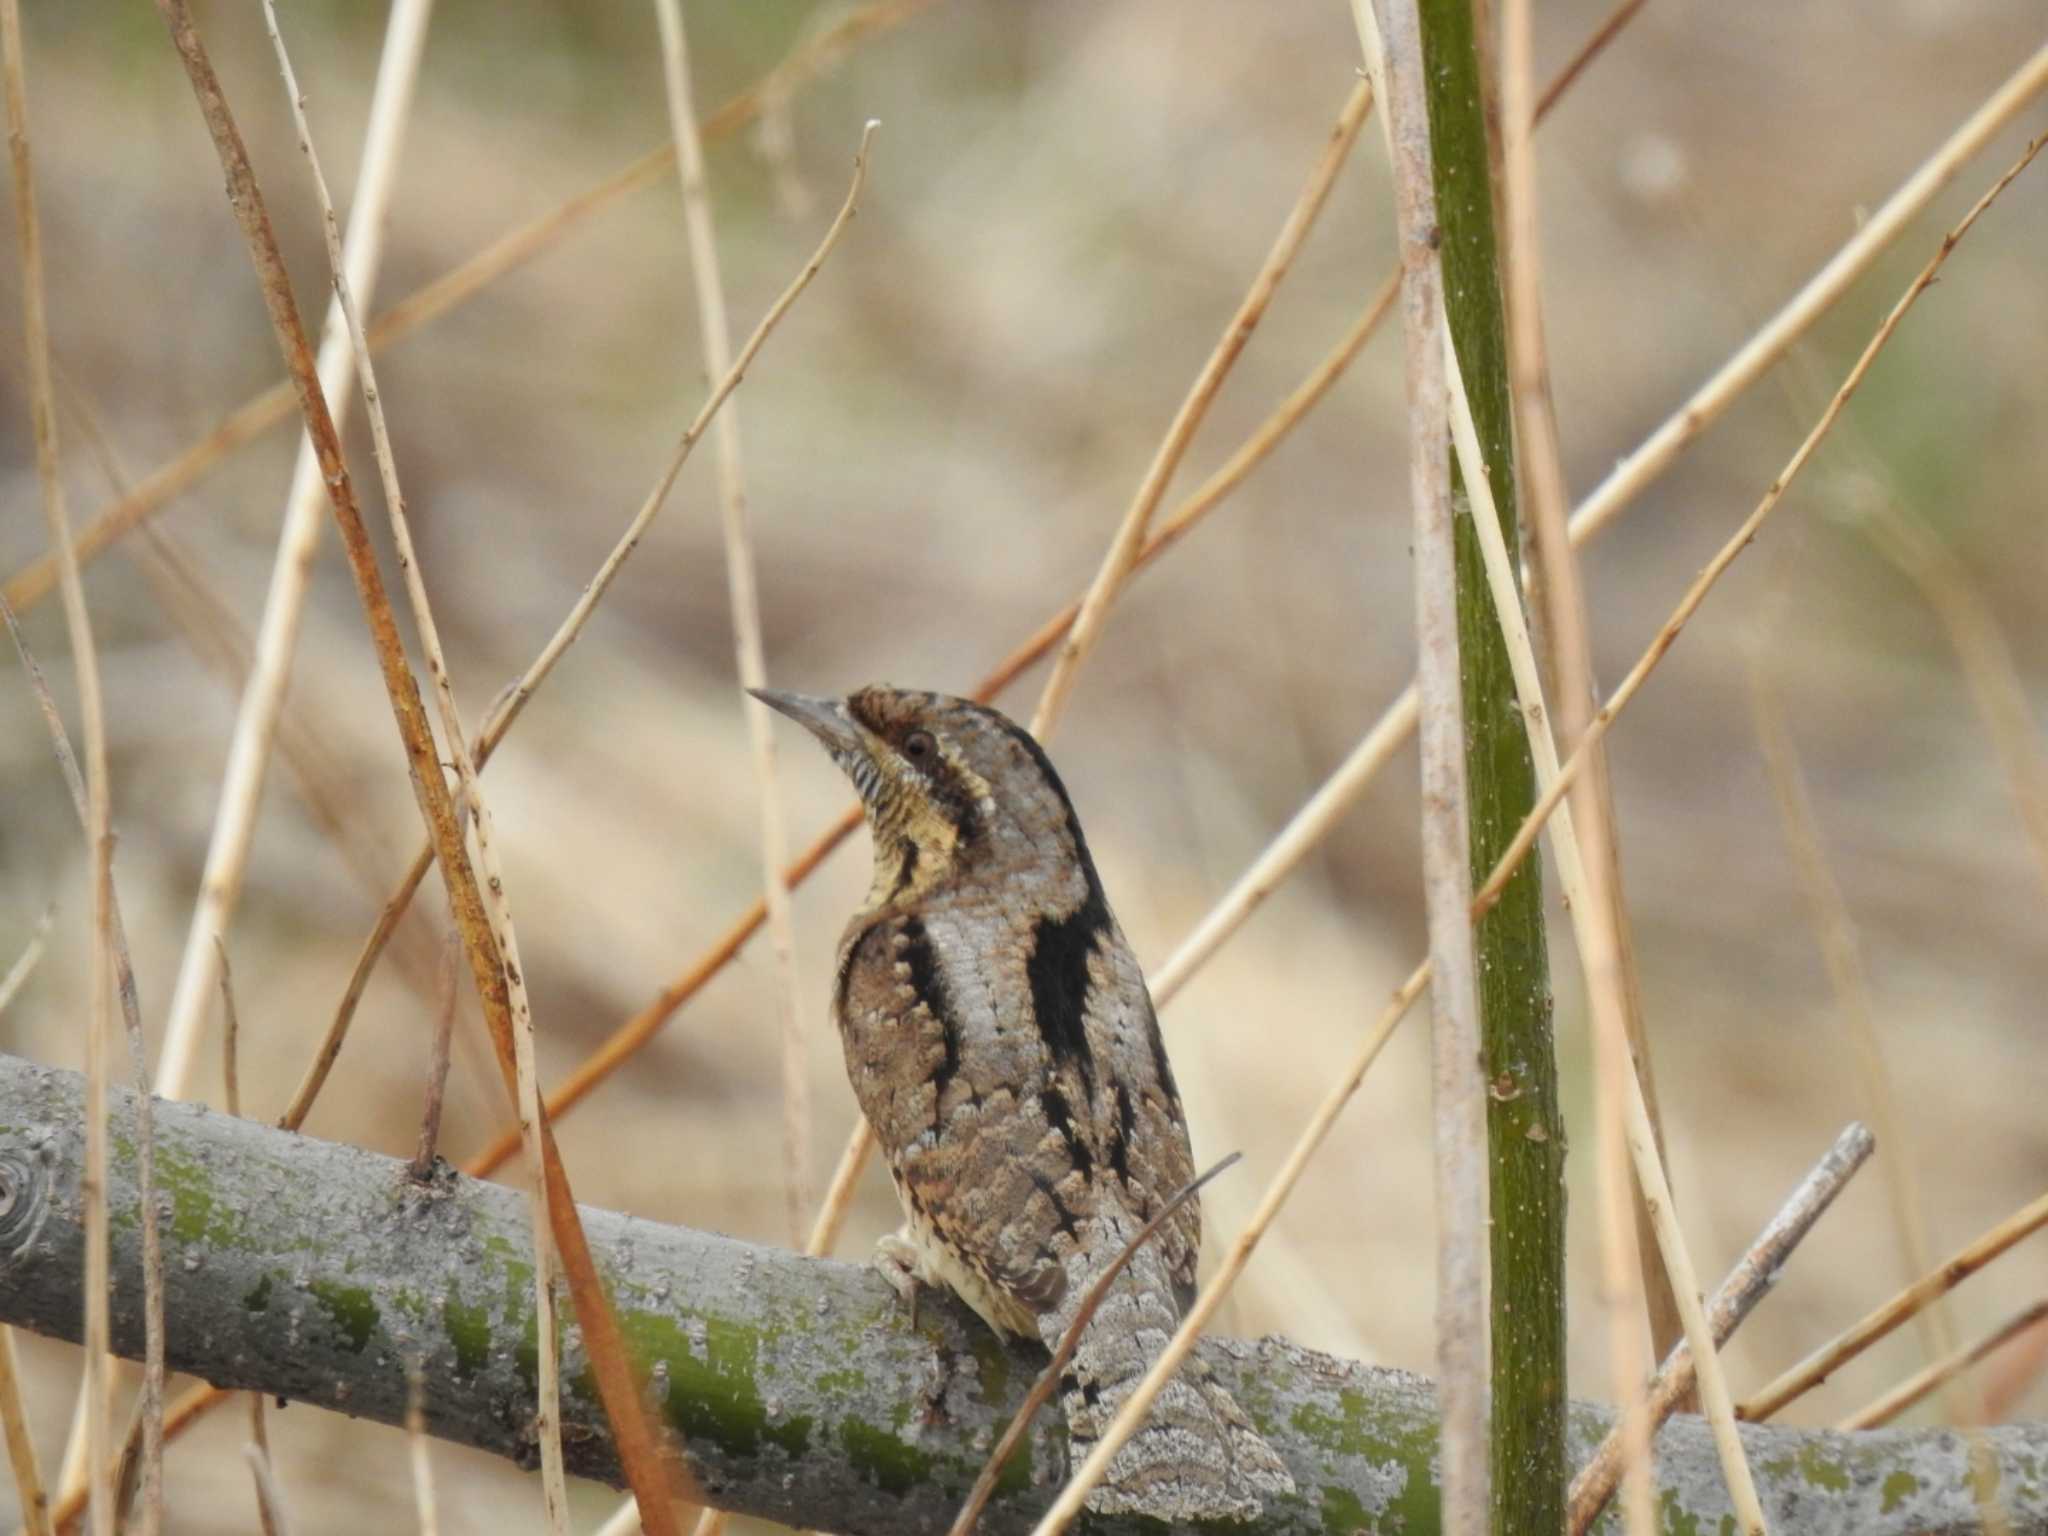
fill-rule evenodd
<path id="1" fill-rule="evenodd" d="M 197 10 L 311 324 L 326 260 L 260 10 Z M 709 111 L 850 8 L 686 10 Z M 1604 0 L 1542 6 L 1538 72 L 1548 78 L 1606 10 Z M 141 4 L 29 12 L 49 324 L 70 391 L 66 487 L 84 522 L 111 498 L 109 459 L 141 477 L 281 367 L 156 14 Z M 332 0 L 299 0 L 283 18 L 344 217 L 383 18 L 381 6 Z M 1538 143 L 1552 377 L 1575 494 L 1790 297 L 2040 31 L 2032 0 L 1647 6 Z M 1321 152 L 1354 59 L 1337 0 L 942 0 L 836 49 L 829 70 L 788 90 L 762 125 L 711 147 L 731 322 L 743 336 L 838 207 L 860 123 L 883 121 L 860 217 L 735 397 L 776 684 L 965 692 L 1085 586 Z M 2036 102 L 1587 553 L 1606 682 L 1755 504 L 1939 231 L 2042 127 L 2048 111 Z M 375 307 L 666 137 L 649 6 L 444 4 Z M 1868 1114 L 1759 750 L 1759 676 L 1853 922 L 1898 1090 L 1903 1145 L 1884 1145 L 1880 1161 L 1917 1174 L 1935 1255 L 2048 1180 L 2048 866 L 1954 643 L 1956 625 L 2001 637 L 2030 711 L 2021 741 L 2038 762 L 2048 709 L 2044 174 L 2023 176 L 1964 242 L 1612 739 L 1673 1180 L 1706 1276 L 1724 1272 L 1841 1124 Z M 12 242 L 8 227 L 8 252 Z M 1167 508 L 1309 373 L 1391 260 L 1384 154 L 1368 127 Z M 0 573 L 12 575 L 45 537 L 18 264 L 10 256 L 4 268 Z M 702 399 L 674 174 L 383 352 L 379 379 L 473 723 L 575 600 Z M 1135 580 L 1081 674 L 1053 758 L 1151 969 L 1409 678 L 1401 389 L 1389 328 L 1229 504 Z M 350 463 L 381 526 L 360 410 L 354 422 Z M 217 649 L 225 633 L 193 594 L 217 594 L 219 612 L 256 629 L 295 449 L 295 430 L 272 428 L 158 514 L 168 543 L 129 539 L 86 571 L 106 676 L 117 881 L 152 1030 L 176 977 L 238 692 L 209 645 L 193 641 L 211 635 Z M 1966 621 L 1929 600 L 1925 561 L 1903 565 L 1876 537 L 1892 516 L 1939 541 L 1939 592 Z M 166 575 L 172 567 L 184 575 Z M 35 606 L 27 633 L 74 709 L 57 604 Z M 12 659 L 6 674 L 0 967 L 45 907 L 57 915 L 47 956 L 0 1016 L 0 1049 L 78 1065 L 86 860 L 33 696 Z M 1042 670 L 1006 698 L 1012 713 L 1030 715 L 1040 680 Z M 489 770 L 545 1081 L 682 973 L 758 893 L 758 784 L 739 702 L 707 446 Z M 227 936 L 244 1106 L 262 1116 L 297 1083 L 418 838 L 332 535 L 291 709 L 307 760 L 346 809 L 346 840 L 322 831 L 303 778 L 272 766 Z M 848 797 L 799 733 L 778 743 L 776 793 L 803 846 Z M 795 897 L 813 1188 L 854 1114 L 825 1006 L 831 950 L 866 879 L 860 836 Z M 430 881 L 309 1133 L 412 1151 L 442 926 Z M 1577 1395 L 1602 1397 L 1589 1051 L 1561 920 L 1552 934 L 1575 1153 L 1573 1370 Z M 1210 1262 L 1421 952 L 1409 750 L 1165 1014 L 1198 1157 L 1247 1155 L 1204 1194 Z M 774 1020 L 774 967 L 758 940 L 561 1120 L 580 1198 L 791 1243 Z M 463 1159 L 504 1114 L 469 1004 L 457 1034 L 442 1147 Z M 215 1024 L 195 1077 L 213 1102 L 217 1053 Z M 1427 1116 L 1417 1016 L 1239 1286 L 1231 1331 L 1432 1366 Z M 840 1251 L 864 1255 L 895 1221 L 870 1169 Z M 1755 1389 L 1905 1278 L 1872 1169 L 1737 1337 L 1735 1391 Z M 2044 1288 L 2036 1239 L 1954 1296 L 1962 1337 Z M 53 1462 L 78 1356 L 41 1339 L 23 1348 L 37 1442 Z M 1905 1329 L 1790 1417 L 1833 1421 L 1921 1360 Z M 2048 1391 L 2028 1370 L 2007 1362 L 1980 1378 L 2003 1391 L 2005 1415 L 2048 1413 Z M 176 1530 L 250 1528 L 242 1434 L 240 1415 L 215 1415 L 172 1448 Z M 272 1436 L 301 1528 L 410 1520 L 397 1434 L 301 1407 L 274 1415 Z M 449 1446 L 434 1458 L 455 1526 L 541 1526 L 524 1475 Z M 215 1485 L 231 1491 L 215 1495 Z M 586 1524 L 608 1505 L 604 1491 L 578 1489 Z"/>

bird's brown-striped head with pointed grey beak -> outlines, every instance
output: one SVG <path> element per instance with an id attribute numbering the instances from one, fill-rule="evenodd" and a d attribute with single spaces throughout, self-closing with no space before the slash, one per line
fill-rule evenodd
<path id="1" fill-rule="evenodd" d="M 860 793 L 874 834 L 868 905 L 920 897 L 983 864 L 1065 860 L 1092 881 L 1059 774 L 997 711 L 885 686 L 846 698 L 770 688 L 754 696 L 811 731 Z"/>

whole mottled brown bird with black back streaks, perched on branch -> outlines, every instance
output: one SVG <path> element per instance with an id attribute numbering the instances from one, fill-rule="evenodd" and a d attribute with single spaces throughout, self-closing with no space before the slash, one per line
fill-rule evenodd
<path id="1" fill-rule="evenodd" d="M 840 942 L 834 1022 L 905 1223 L 879 1264 L 952 1286 L 999 1333 L 1049 1348 L 1096 1276 L 1194 1178 L 1145 977 L 1038 743 L 965 698 L 862 688 L 760 694 L 854 780 L 874 883 Z M 1194 1296 L 1184 1204 L 1112 1286 L 1061 1382 L 1075 1452 Z M 1190 1360 L 1090 1507 L 1239 1518 L 1292 1493 L 1274 1450 Z"/>

